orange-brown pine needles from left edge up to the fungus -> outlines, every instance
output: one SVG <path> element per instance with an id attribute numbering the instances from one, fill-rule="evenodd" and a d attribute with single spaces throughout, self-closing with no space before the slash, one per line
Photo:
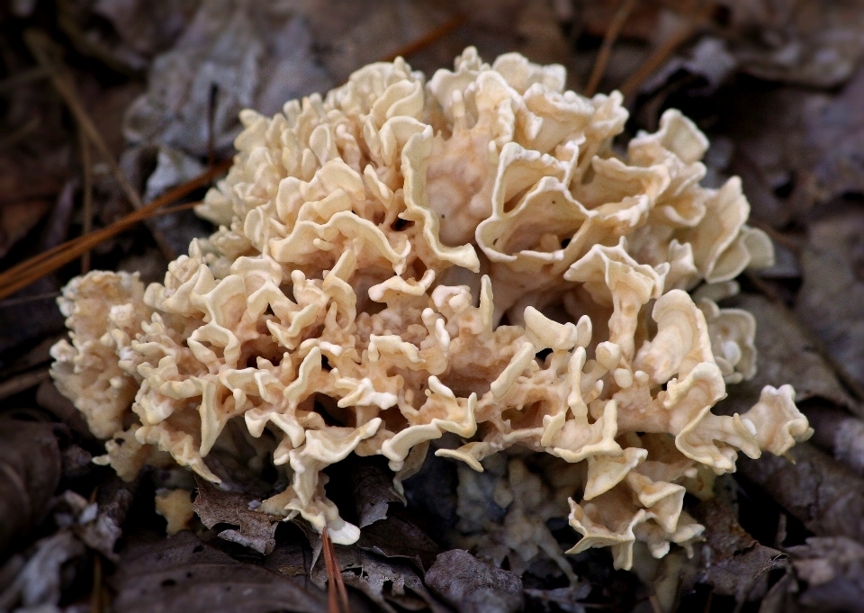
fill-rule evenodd
<path id="1" fill-rule="evenodd" d="M 130 212 L 121 220 L 114 221 L 110 226 L 101 230 L 94 230 L 77 239 L 68 240 L 62 245 L 58 245 L 58 247 L 49 249 L 38 256 L 31 257 L 21 264 L 5 270 L 3 273 L 0 273 L 0 300 L 32 284 L 42 276 L 57 270 L 60 266 L 64 266 L 77 257 L 81 257 L 85 252 L 96 247 L 104 240 L 110 239 L 112 236 L 130 228 L 139 221 L 143 221 L 148 217 L 150 212 L 156 211 L 167 204 L 175 203 L 199 187 L 209 185 L 213 178 L 227 171 L 232 163 L 233 161 L 230 159 L 224 160 L 210 170 L 202 173 L 202 175 L 196 176 L 193 180 L 187 181 L 183 185 L 178 185 L 171 191 L 158 197 L 152 203 L 144 205 L 143 208 Z"/>

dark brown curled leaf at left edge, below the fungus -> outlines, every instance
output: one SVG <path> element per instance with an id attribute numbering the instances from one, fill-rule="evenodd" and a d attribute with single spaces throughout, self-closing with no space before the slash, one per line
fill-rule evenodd
<path id="1" fill-rule="evenodd" d="M 45 516 L 61 464 L 50 424 L 0 417 L 0 557 Z"/>

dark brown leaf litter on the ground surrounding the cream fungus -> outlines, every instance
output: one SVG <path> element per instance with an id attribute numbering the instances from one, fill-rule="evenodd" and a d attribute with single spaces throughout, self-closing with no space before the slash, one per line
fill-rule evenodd
<path id="1" fill-rule="evenodd" d="M 37 23 L 42 4 L 16 3 L 16 13 L 0 16 L 0 28 L 18 32 L 39 24 L 68 45 L 65 61 L 85 108 L 148 198 L 199 174 L 214 155 L 229 156 L 240 108 L 271 113 L 286 99 L 327 90 L 358 65 L 386 57 L 457 13 L 452 3 L 419 0 L 263 8 L 242 0 L 171 6 L 97 0 L 58 3 L 56 23 Z M 485 57 L 518 50 L 563 63 L 578 88 L 616 10 L 615 3 L 578 4 L 473 0 L 458 7 L 464 22 L 410 61 L 431 74 L 467 44 Z M 620 86 L 628 70 L 670 39 L 689 19 L 686 4 L 657 0 L 629 15 L 600 91 Z M 10 36 L 21 41 L 20 34 Z M 568 562 L 576 581 L 548 558 L 512 572 L 509 561 L 516 558 L 500 544 L 457 548 L 464 543 L 460 526 L 470 534 L 505 522 L 510 505 L 498 483 L 506 470 L 473 475 L 469 487 L 455 464 L 430 453 L 403 493 L 374 461 L 358 463 L 331 482 L 344 489 L 334 495 L 340 512 L 362 527 L 357 545 L 336 546 L 352 610 L 492 610 L 494 603 L 502 611 L 581 611 L 612 603 L 616 610 L 671 611 L 706 608 L 706 599 L 707 610 L 733 610 L 724 603 L 746 599 L 761 601 L 766 611 L 860 610 L 861 41 L 864 8 L 854 0 L 824 7 L 806 0 L 723 0 L 710 23 L 639 84 L 631 104 L 634 130 L 653 129 L 669 106 L 696 117 L 715 143 L 708 180 L 742 175 L 752 218 L 774 232 L 782 261 L 773 272 L 743 279 L 745 292 L 724 305 L 754 314 L 760 355 L 756 378 L 730 388 L 725 411 L 740 411 L 762 384 L 794 383 L 816 428 L 812 444 L 791 452 L 796 463 L 743 460 L 734 479 L 718 481 L 716 500 L 689 501 L 709 527 L 692 558 L 679 551 L 646 563 L 636 577 L 612 572 L 602 554 L 580 554 Z M 69 182 L 80 174 L 76 126 L 44 75 L 30 76 L 35 68 L 24 49 L 4 51 L 0 77 L 5 266 L 35 253 L 34 245 L 48 248 L 75 236 L 84 223 L 81 185 Z M 21 85 L 4 87 L 11 78 Z M 99 227 L 128 204 L 103 162 L 90 170 Z M 159 219 L 157 227 L 180 248 L 208 231 L 188 212 Z M 150 263 L 151 278 L 165 264 L 144 230 L 112 239 L 94 257 L 106 268 Z M 4 382 L 40 366 L 13 365 L 60 329 L 53 295 L 75 274 L 72 268 L 18 294 L 19 302 L 0 302 Z M 152 473 L 132 484 L 108 479 L 90 464 L 98 446 L 52 387 L 42 383 L 38 395 L 33 386 L 4 400 L 16 409 L 40 405 L 49 414 L 0 422 L 0 610 L 89 610 L 94 556 L 108 574 L 107 584 L 97 587 L 110 588 L 117 610 L 328 610 L 320 590 L 328 581 L 320 538 L 298 529 L 302 522 L 274 522 L 254 509 L 266 491 L 284 484 L 253 482 L 243 465 L 214 455 L 213 470 L 232 487 L 199 483 L 191 529 L 157 535 L 159 520 L 141 509 L 151 509 L 154 488 L 175 477 Z M 460 514 L 460 487 L 481 505 L 477 517 Z M 756 492 L 773 505 L 759 517 L 747 500 Z M 127 521 L 148 512 L 148 527 Z M 568 527 L 544 526 L 556 546 L 576 539 Z M 480 602 L 487 608 L 477 608 Z"/>

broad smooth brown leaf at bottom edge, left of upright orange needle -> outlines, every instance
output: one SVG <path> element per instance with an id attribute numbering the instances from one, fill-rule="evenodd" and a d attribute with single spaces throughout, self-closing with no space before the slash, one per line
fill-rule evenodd
<path id="1" fill-rule="evenodd" d="M 124 613 L 327 611 L 323 592 L 240 563 L 188 530 L 130 543 L 109 582 L 117 592 L 113 608 Z"/>

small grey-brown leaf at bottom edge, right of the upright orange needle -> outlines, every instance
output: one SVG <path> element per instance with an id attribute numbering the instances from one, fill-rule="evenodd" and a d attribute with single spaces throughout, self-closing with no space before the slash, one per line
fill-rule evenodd
<path id="1" fill-rule="evenodd" d="M 427 585 L 460 613 L 513 613 L 522 608 L 518 575 L 482 562 L 464 549 L 438 554 Z"/>

